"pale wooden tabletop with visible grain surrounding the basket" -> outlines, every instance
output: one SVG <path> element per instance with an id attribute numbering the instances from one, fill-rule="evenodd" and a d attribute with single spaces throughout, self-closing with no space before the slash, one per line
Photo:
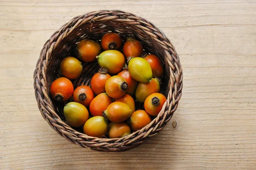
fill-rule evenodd
<path id="1" fill-rule="evenodd" d="M 34 96 L 44 42 L 74 16 L 100 9 L 153 22 L 183 65 L 173 119 L 125 153 L 70 144 L 44 121 Z M 255 0 L 1 0 L 0 47 L 1 170 L 256 169 Z"/>

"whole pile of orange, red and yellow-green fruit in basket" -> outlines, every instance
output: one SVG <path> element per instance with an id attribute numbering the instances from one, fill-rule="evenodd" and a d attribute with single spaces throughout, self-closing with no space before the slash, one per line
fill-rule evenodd
<path id="1" fill-rule="evenodd" d="M 121 44 L 121 37 L 112 32 L 102 37 L 101 45 L 93 40 L 81 40 L 76 46 L 78 58 L 82 62 L 97 59 L 101 67 L 93 75 L 90 87 L 81 85 L 74 90 L 70 79 L 78 78 L 83 70 L 75 57 L 61 61 L 62 77 L 50 87 L 57 102 L 70 101 L 63 110 L 67 123 L 83 127 L 88 136 L 120 138 L 140 130 L 150 124 L 166 101 L 160 94 L 163 76 L 160 59 L 145 54 L 142 44 L 134 38 L 127 38 L 122 52 L 118 51 Z M 136 111 L 135 104 L 143 102 L 145 110 Z"/>

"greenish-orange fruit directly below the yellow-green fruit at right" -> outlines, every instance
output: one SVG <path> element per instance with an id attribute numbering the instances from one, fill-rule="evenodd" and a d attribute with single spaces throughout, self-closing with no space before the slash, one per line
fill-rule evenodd
<path id="1" fill-rule="evenodd" d="M 140 82 L 135 93 L 136 101 L 143 103 L 149 95 L 159 92 L 160 82 L 156 78 L 152 78 L 148 83 Z"/>

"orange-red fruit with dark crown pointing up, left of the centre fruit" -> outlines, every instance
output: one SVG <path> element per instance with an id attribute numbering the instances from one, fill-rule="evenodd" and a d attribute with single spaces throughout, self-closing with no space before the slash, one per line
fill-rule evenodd
<path id="1" fill-rule="evenodd" d="M 105 84 L 110 77 L 111 75 L 108 74 L 108 70 L 106 68 L 100 68 L 99 72 L 94 74 L 91 79 L 91 88 L 96 95 L 106 92 Z"/>

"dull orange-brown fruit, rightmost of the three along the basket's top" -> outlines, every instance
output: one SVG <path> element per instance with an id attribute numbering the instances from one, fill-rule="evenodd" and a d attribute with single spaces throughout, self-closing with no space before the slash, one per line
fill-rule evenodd
<path id="1" fill-rule="evenodd" d="M 125 58 L 128 57 L 140 57 L 143 53 L 143 46 L 138 40 L 133 38 L 127 38 L 124 47 L 123 47 L 123 54 Z"/>

